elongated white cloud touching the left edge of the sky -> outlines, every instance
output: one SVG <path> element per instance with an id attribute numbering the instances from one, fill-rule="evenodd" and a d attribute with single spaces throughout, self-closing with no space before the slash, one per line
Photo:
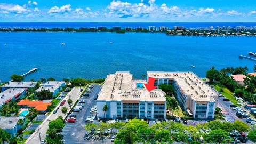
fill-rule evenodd
<path id="1" fill-rule="evenodd" d="M 6 4 L 6 3 L 0 4 L 0 12 L 2 12 L 2 13 L 21 14 L 26 11 L 27 11 L 27 9 L 25 9 L 25 7 L 22 7 L 20 5 Z"/>

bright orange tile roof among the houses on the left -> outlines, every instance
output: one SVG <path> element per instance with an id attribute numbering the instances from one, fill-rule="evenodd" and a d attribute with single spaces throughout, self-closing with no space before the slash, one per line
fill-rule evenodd
<path id="1" fill-rule="evenodd" d="M 21 100 L 17 103 L 17 105 L 21 108 L 35 108 L 41 114 L 45 114 L 48 110 L 48 106 L 51 106 L 51 102 L 43 102 L 43 101 L 30 101 L 30 100 Z"/>

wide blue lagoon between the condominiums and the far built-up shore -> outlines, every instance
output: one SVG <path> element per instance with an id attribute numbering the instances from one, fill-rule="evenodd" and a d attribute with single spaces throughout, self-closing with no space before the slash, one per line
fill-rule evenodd
<path id="1" fill-rule="evenodd" d="M 244 26 L 256 26 L 256 23 Z M 205 77 L 205 71 L 212 66 L 217 69 L 247 66 L 253 71 L 255 61 L 238 56 L 255 52 L 255 40 L 243 36 L 167 36 L 164 33 L 0 33 L 0 79 L 9 81 L 12 74 L 23 74 L 34 67 L 39 70 L 26 80 L 106 78 L 115 71 L 131 71 L 135 78 L 141 78 L 147 71 L 193 71 Z"/>

